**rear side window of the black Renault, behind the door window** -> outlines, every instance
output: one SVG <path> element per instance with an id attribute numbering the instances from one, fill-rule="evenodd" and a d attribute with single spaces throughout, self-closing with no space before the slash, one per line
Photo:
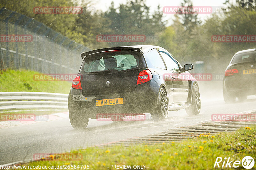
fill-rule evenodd
<path id="1" fill-rule="evenodd" d="M 164 66 L 164 62 L 163 62 L 161 56 L 159 55 L 158 51 L 156 50 L 156 48 L 154 48 L 148 52 L 146 61 L 147 61 L 147 63 L 150 63 L 154 67 L 166 69 Z"/>

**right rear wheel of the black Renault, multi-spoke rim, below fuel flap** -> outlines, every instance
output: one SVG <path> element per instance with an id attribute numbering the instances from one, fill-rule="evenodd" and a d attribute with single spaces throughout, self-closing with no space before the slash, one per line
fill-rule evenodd
<path id="1" fill-rule="evenodd" d="M 163 121 L 168 117 L 168 97 L 162 88 L 159 93 L 159 101 L 155 113 L 151 114 L 153 120 Z"/>

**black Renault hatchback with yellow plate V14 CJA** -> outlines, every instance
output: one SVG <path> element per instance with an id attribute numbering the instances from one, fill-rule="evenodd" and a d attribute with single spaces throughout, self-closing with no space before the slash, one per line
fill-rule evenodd
<path id="1" fill-rule="evenodd" d="M 200 112 L 198 84 L 188 72 L 193 65 L 182 67 L 162 47 L 103 48 L 81 57 L 83 63 L 68 96 L 74 128 L 86 127 L 89 118 L 98 114 L 120 114 L 124 120 L 128 115 L 150 113 L 154 120 L 165 120 L 169 110 L 185 108 L 188 115 Z"/>

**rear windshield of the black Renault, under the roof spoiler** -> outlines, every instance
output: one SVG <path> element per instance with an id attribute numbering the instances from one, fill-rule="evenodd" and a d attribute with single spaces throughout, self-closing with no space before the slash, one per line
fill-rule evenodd
<path id="1" fill-rule="evenodd" d="M 142 54 L 137 51 L 100 52 L 84 58 L 80 74 L 120 72 L 140 67 Z"/>

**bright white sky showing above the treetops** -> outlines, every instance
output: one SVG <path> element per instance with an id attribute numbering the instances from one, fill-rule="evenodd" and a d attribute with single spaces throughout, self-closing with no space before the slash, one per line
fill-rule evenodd
<path id="1" fill-rule="evenodd" d="M 92 7 L 97 10 L 106 11 L 110 6 L 111 2 L 114 1 L 115 7 L 118 7 L 120 3 L 125 4 L 127 0 L 92 0 Z M 212 6 L 212 7 L 226 7 L 223 3 L 226 0 L 192 0 L 193 6 Z M 157 9 L 158 4 L 161 9 L 164 6 L 180 6 L 182 0 L 146 0 L 147 6 L 150 7 L 151 11 L 155 11 Z M 230 0 L 230 2 L 235 2 L 235 0 Z M 174 14 L 164 14 L 164 20 L 168 20 L 168 24 L 172 23 L 172 18 Z M 210 17 L 211 14 L 199 14 L 198 17 L 201 20 Z"/>

